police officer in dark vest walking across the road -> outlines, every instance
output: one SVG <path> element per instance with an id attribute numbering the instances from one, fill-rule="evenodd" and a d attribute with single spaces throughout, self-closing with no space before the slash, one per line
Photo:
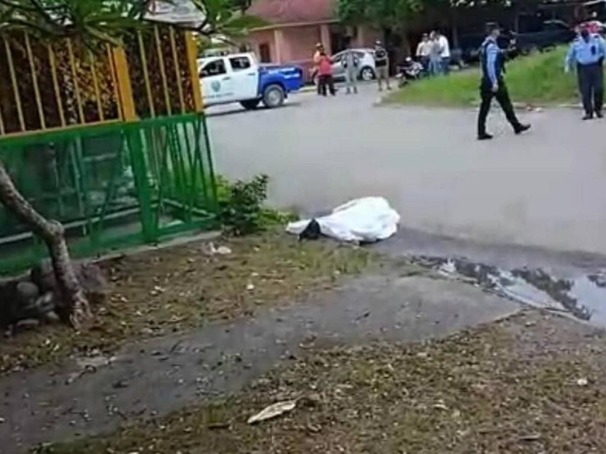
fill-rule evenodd
<path id="1" fill-rule="evenodd" d="M 480 85 L 480 95 L 482 97 L 482 104 L 478 115 L 478 140 L 493 138 L 493 136 L 486 132 L 486 118 L 488 111 L 490 111 L 490 103 L 493 97 L 498 100 L 516 134 L 530 129 L 530 125 L 524 125 L 519 122 L 509 99 L 507 85 L 505 85 L 503 77 L 505 73 L 505 54 L 503 50 L 499 49 L 499 45 L 497 44 L 497 39 L 501 35 L 501 29 L 496 23 L 488 24 L 487 28 L 488 36 L 482 44 L 481 50 L 482 82 Z"/>

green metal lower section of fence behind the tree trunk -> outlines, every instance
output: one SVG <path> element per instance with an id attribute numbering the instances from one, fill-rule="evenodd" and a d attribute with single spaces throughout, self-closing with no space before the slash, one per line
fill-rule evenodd
<path id="1" fill-rule="evenodd" d="M 203 114 L 7 137 L 0 157 L 33 206 L 64 224 L 76 257 L 216 225 Z M 45 255 L 0 206 L 0 273 Z"/>

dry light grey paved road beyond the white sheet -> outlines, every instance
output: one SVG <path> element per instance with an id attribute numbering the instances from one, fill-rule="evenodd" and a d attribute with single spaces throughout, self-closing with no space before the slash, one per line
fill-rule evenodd
<path id="1" fill-rule="evenodd" d="M 475 112 L 375 107 L 357 96 L 291 98 L 279 110 L 211 111 L 219 171 L 271 176 L 270 202 L 316 214 L 382 195 L 404 226 L 489 243 L 606 253 L 606 122 L 574 110 L 522 113 L 514 136 L 494 110 L 492 142 L 476 142 Z"/>

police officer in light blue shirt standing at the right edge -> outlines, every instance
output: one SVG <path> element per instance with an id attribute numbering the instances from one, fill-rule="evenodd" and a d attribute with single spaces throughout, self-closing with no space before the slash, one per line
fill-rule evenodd
<path id="1" fill-rule="evenodd" d="M 564 71 L 571 70 L 576 64 L 578 71 L 579 91 L 583 98 L 585 109 L 584 120 L 591 120 L 596 114 L 602 118 L 604 104 L 604 56 L 606 42 L 599 35 L 591 35 L 587 27 L 581 28 L 581 33 L 570 46 L 570 51 L 564 62 Z"/>

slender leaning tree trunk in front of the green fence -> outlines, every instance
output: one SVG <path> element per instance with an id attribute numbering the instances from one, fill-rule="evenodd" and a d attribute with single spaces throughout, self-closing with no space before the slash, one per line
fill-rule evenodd
<path id="1" fill-rule="evenodd" d="M 88 300 L 76 277 L 65 242 L 65 229 L 55 220 L 47 220 L 15 188 L 0 159 L 0 203 L 32 232 L 44 240 L 53 263 L 65 310 L 61 314 L 75 329 L 92 317 Z"/>

